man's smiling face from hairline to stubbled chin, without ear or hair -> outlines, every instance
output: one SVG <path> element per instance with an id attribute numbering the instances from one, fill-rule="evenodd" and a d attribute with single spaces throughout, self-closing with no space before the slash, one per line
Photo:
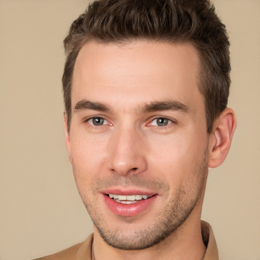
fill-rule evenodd
<path id="1" fill-rule="evenodd" d="M 94 232 L 150 247 L 200 219 L 208 135 L 189 44 L 88 42 L 75 63 L 67 149 Z"/>

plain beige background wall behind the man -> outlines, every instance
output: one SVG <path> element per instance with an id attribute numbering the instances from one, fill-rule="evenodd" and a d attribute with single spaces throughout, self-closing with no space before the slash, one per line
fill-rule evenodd
<path id="1" fill-rule="evenodd" d="M 0 0 L 0 259 L 30 259 L 86 238 L 92 224 L 64 146 L 62 40 L 83 0 Z M 215 0 L 231 39 L 230 154 L 210 170 L 203 218 L 220 259 L 260 259 L 260 1 Z"/>

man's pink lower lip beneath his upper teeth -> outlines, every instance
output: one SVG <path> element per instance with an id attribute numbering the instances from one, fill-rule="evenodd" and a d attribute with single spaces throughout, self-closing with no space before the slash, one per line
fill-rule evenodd
<path id="1" fill-rule="evenodd" d="M 156 195 L 146 200 L 140 200 L 133 204 L 115 202 L 104 194 L 104 200 L 109 209 L 118 216 L 132 217 L 144 212 L 156 199 Z"/>

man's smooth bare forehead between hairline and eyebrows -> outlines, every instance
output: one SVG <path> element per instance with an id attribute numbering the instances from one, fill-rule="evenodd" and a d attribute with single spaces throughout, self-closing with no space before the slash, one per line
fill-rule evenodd
<path id="1" fill-rule="evenodd" d="M 97 94 L 100 102 L 127 99 L 129 106 L 155 98 L 188 102 L 200 95 L 198 72 L 199 57 L 188 43 L 90 41 L 75 63 L 72 106 L 81 99 L 96 101 Z"/>

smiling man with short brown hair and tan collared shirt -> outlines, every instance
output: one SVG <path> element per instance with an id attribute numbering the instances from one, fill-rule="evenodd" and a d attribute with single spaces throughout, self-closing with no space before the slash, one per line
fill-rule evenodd
<path id="1" fill-rule="evenodd" d="M 218 259 L 201 210 L 236 120 L 214 7 L 96 1 L 64 45 L 66 146 L 94 232 L 41 259 Z"/>

